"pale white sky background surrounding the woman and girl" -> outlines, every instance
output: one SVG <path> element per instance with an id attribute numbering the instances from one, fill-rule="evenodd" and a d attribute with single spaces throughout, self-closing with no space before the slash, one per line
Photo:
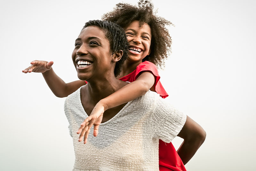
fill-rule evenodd
<path id="1" fill-rule="evenodd" d="M 65 82 L 77 80 L 75 39 L 86 21 L 118 2 L 1 1 L 0 170 L 72 170 L 65 98 L 52 94 L 42 74 L 21 70 L 52 60 Z M 187 170 L 256 170 L 256 2 L 153 3 L 176 26 L 168 27 L 172 54 L 160 71 L 167 100 L 207 132 Z M 175 138 L 175 148 L 181 142 Z"/>

